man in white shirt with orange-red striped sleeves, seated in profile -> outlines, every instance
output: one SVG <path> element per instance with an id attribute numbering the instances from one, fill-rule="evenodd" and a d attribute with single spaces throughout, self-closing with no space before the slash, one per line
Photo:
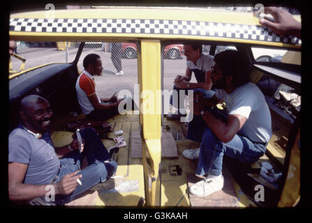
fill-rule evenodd
<path id="1" fill-rule="evenodd" d="M 104 121 L 119 114 L 118 105 L 122 99 L 100 98 L 96 92 L 95 75 L 101 75 L 103 70 L 101 57 L 98 54 L 88 54 L 83 61 L 84 70 L 77 78 L 77 99 L 82 112 L 87 118 Z"/>

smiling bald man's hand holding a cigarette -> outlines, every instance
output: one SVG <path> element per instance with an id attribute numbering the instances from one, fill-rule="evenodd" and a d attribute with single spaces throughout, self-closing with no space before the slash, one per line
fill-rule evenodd
<path id="1" fill-rule="evenodd" d="M 77 187 L 77 179 L 82 178 L 82 175 L 77 175 L 78 171 L 66 174 L 59 182 L 55 183 L 56 194 L 70 194 Z"/>

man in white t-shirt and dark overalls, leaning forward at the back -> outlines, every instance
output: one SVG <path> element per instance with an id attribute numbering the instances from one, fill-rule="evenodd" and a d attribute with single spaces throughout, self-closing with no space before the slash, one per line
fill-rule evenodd
<path id="1" fill-rule="evenodd" d="M 177 75 L 174 79 L 173 91 L 177 92 L 177 97 L 174 97 L 174 93 L 170 97 L 170 104 L 178 109 L 178 114 L 170 114 L 168 119 L 174 120 L 181 116 L 186 115 L 184 109 L 184 103 L 179 103 L 179 92 L 193 89 L 205 89 L 210 90 L 212 86 L 211 82 L 211 67 L 214 66 L 214 57 L 210 55 L 202 54 L 201 44 L 184 45 L 184 55 L 186 56 L 186 72 L 185 75 Z M 197 83 L 190 83 L 194 73 Z M 175 102 L 174 102 L 175 101 Z"/>

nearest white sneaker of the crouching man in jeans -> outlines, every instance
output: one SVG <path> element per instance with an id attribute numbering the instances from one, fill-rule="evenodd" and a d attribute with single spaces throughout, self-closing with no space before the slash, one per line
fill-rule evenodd
<path id="1" fill-rule="evenodd" d="M 205 180 L 200 180 L 198 183 L 192 185 L 189 192 L 195 196 L 205 197 L 209 194 L 222 190 L 224 185 L 223 175 L 205 178 Z"/>

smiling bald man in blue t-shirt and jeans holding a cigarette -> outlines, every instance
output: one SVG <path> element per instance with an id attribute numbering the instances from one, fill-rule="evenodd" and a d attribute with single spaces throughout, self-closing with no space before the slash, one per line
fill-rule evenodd
<path id="1" fill-rule="evenodd" d="M 39 198 L 41 204 L 63 205 L 94 185 L 101 188 L 101 183 L 117 170 L 117 163 L 111 161 L 91 128 L 80 132 L 84 142 L 82 153 L 77 139 L 55 148 L 49 132 L 52 114 L 50 103 L 38 95 L 28 95 L 20 102 L 20 124 L 10 133 L 8 141 L 11 201 Z M 84 157 L 89 166 L 80 171 Z"/>

